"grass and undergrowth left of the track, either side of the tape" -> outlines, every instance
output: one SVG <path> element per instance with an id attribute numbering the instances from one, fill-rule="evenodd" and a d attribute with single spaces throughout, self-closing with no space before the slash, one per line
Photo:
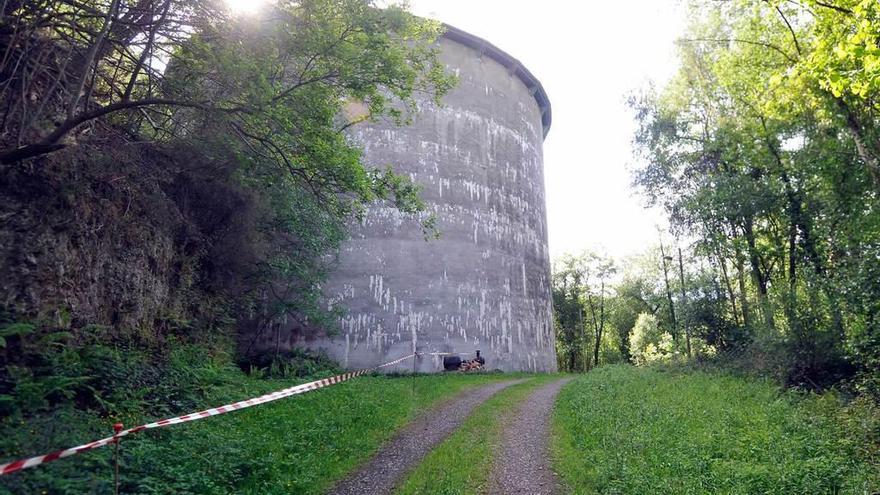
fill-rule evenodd
<path id="1" fill-rule="evenodd" d="M 110 436 L 115 422 L 135 426 L 338 371 L 326 358 L 295 353 L 246 372 L 222 343 L 169 340 L 157 358 L 96 342 L 78 346 L 52 332 L 31 337 L 43 347 L 27 354 L 24 371 L 9 365 L 0 373 L 0 463 Z M 418 411 L 502 376 L 365 376 L 140 432 L 122 441 L 120 492 L 320 493 Z M 113 493 L 113 448 L 3 476 L 0 493 Z"/>

